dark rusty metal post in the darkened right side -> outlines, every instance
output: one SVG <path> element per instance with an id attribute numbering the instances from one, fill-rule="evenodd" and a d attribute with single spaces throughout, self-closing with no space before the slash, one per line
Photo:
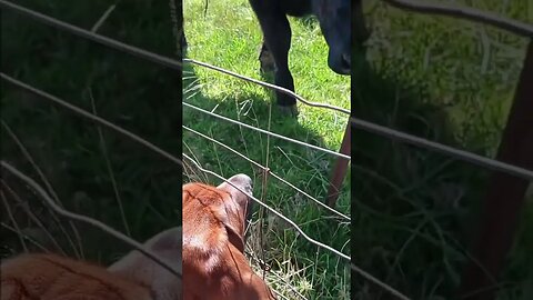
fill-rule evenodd
<path id="1" fill-rule="evenodd" d="M 514 102 L 503 132 L 497 160 L 533 169 L 533 41 L 530 40 Z M 473 256 L 485 269 L 471 262 L 464 270 L 460 297 L 487 300 L 495 297 L 495 280 L 514 239 L 517 217 L 530 182 L 495 172 L 489 182 Z"/>

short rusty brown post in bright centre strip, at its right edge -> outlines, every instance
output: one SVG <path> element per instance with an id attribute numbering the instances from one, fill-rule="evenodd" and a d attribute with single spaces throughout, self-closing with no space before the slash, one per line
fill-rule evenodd
<path id="1" fill-rule="evenodd" d="M 350 140 L 350 130 L 351 123 L 348 120 L 346 130 L 344 131 L 344 137 L 342 138 L 341 152 L 342 154 L 350 156 L 351 151 L 351 140 Z M 342 181 L 346 176 L 348 163 L 350 161 L 344 158 L 338 158 L 335 162 L 335 168 L 333 168 L 333 174 L 331 177 L 330 189 L 328 191 L 328 206 L 334 208 L 336 199 L 339 198 L 339 191 L 341 190 Z"/>

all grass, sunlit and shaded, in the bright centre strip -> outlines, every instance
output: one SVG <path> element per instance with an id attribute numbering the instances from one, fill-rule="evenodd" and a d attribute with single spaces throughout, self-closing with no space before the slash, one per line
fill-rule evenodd
<path id="1" fill-rule="evenodd" d="M 259 71 L 261 31 L 245 0 L 184 1 L 188 57 L 231 71 L 263 79 Z M 293 40 L 290 68 L 295 89 L 311 101 L 350 109 L 350 78 L 333 73 L 326 66 L 328 48 L 318 22 L 291 19 Z M 271 80 L 266 78 L 268 80 Z M 272 82 L 272 81 L 271 81 Z M 184 70 L 184 101 L 248 124 L 338 151 L 346 116 L 300 104 L 299 120 L 280 116 L 271 91 L 201 67 Z M 269 166 L 298 188 L 324 201 L 334 158 L 302 146 L 240 128 L 183 108 L 183 124 L 210 136 Z M 270 177 L 266 184 L 260 169 L 239 156 L 195 134 L 184 132 L 184 152 L 204 168 L 224 177 L 243 172 L 255 182 L 254 194 L 299 224 L 310 237 L 349 253 L 349 223 L 328 218 L 328 212 L 290 187 Z M 191 180 L 198 180 L 192 174 Z M 213 182 L 211 179 L 210 182 Z M 219 182 L 214 180 L 214 182 Z M 262 188 L 266 191 L 262 194 Z M 338 209 L 348 213 L 349 184 L 344 184 Z M 298 299 L 290 286 L 306 299 L 349 299 L 350 276 L 346 264 L 334 254 L 295 234 L 289 224 L 269 212 L 250 236 L 250 252 L 271 263 L 271 284 L 290 299 Z M 261 233 L 262 232 L 262 233 Z M 260 237 L 263 237 L 261 244 Z M 264 252 L 262 251 L 264 249 Z M 261 272 L 261 271 L 260 271 Z M 275 276 L 278 274 L 278 276 Z M 280 281 L 279 277 L 284 280 Z"/>

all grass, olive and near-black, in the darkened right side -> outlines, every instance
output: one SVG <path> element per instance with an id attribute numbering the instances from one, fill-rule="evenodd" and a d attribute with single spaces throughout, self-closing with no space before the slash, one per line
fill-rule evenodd
<path id="1" fill-rule="evenodd" d="M 532 21 L 527 1 L 460 1 Z M 507 3 L 507 4 L 505 4 Z M 366 2 L 371 68 L 355 71 L 354 113 L 494 156 L 526 40 L 489 27 Z M 442 154 L 354 131 L 352 260 L 414 299 L 453 299 L 489 172 Z M 499 278 L 499 299 L 529 299 L 531 201 Z M 390 299 L 352 274 L 352 299 Z M 530 293 L 527 293 L 530 291 Z M 530 294 L 530 296 L 527 296 Z"/>

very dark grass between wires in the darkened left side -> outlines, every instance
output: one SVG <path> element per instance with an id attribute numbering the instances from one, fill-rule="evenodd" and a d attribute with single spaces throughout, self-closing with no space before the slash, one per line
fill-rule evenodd
<path id="1" fill-rule="evenodd" d="M 90 29 L 115 1 L 78 1 L 76 6 L 64 1 L 18 3 Z M 92 111 L 94 106 L 98 116 L 180 154 L 177 129 L 181 122 L 181 82 L 175 71 L 6 10 L 1 24 L 2 41 L 9 41 L 2 42 L 2 72 L 82 109 Z M 164 2 L 122 1 L 99 32 L 164 56 L 174 52 L 169 7 Z M 36 168 L 42 170 L 67 209 L 128 232 L 120 200 L 129 232 L 139 241 L 181 223 L 182 174 L 178 166 L 112 131 L 102 129 L 101 142 L 94 123 L 3 81 L 1 84 L 1 119 L 34 163 L 22 154 L 4 127 L 2 159 L 40 184 L 44 181 Z M 78 241 L 64 219 L 57 218 L 56 222 L 42 201 L 3 170 L 0 190 L 22 233 L 50 251 L 61 251 L 54 247 L 56 240 L 67 254 L 81 254 L 72 249 L 64 232 L 89 260 L 109 263 L 129 250 L 99 230 L 73 223 L 81 236 Z M 6 227 L 13 224 L 3 208 L 2 202 L 0 234 L 6 257 L 21 252 L 22 248 L 16 232 Z M 40 222 L 29 218 L 29 209 Z M 30 250 L 38 250 L 33 242 L 27 243 Z"/>

